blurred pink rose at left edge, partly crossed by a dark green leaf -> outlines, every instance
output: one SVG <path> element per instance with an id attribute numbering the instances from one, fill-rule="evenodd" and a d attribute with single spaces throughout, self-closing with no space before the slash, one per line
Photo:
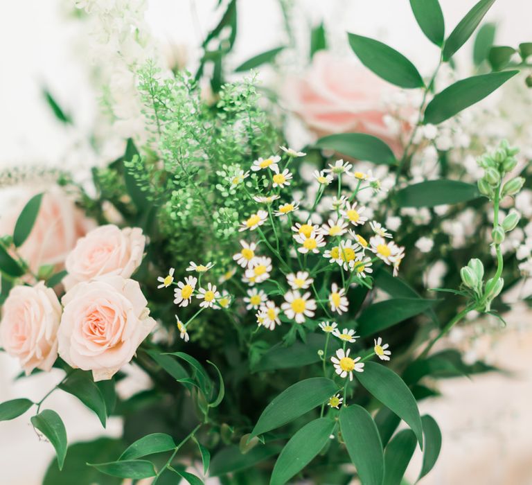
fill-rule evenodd
<path id="1" fill-rule="evenodd" d="M 0 235 L 12 235 L 15 223 L 26 202 L 39 190 L 30 187 L 15 187 L 2 209 Z M 53 186 L 42 197 L 39 215 L 33 229 L 19 248 L 19 254 L 28 261 L 30 270 L 37 273 L 43 265 L 62 267 L 67 254 L 76 241 L 94 227 L 94 221 L 87 218 L 60 187 Z"/>

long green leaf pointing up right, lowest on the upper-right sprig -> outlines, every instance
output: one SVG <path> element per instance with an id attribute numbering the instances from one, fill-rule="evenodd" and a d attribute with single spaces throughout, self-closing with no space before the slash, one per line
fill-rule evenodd
<path id="1" fill-rule="evenodd" d="M 437 125 L 478 103 L 519 71 L 481 74 L 455 82 L 436 94 L 425 109 L 423 123 Z"/>

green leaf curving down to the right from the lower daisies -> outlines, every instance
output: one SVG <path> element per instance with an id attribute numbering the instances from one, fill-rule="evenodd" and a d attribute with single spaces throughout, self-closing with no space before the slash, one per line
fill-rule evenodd
<path id="1" fill-rule="evenodd" d="M 366 362 L 364 372 L 357 372 L 357 379 L 375 399 L 411 427 L 423 448 L 423 427 L 418 405 L 405 381 L 391 369 L 376 362 Z"/>

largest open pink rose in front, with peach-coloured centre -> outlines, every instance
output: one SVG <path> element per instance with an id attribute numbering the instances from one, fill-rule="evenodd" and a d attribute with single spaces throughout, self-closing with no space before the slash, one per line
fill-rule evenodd
<path id="1" fill-rule="evenodd" d="M 155 326 L 139 283 L 103 276 L 78 283 L 64 295 L 59 355 L 71 367 L 112 378 L 132 360 Z"/>

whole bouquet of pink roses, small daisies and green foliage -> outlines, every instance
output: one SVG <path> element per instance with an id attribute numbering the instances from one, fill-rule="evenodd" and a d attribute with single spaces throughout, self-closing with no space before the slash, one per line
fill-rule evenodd
<path id="1" fill-rule="evenodd" d="M 141 11 L 80 3 L 105 19 Z M 442 436 L 418 401 L 438 395 L 437 378 L 495 370 L 445 337 L 479 314 L 504 322 L 499 295 L 520 281 L 513 252 L 530 232 L 511 209 L 527 155 L 468 133 L 462 112 L 515 76 L 515 64 L 526 67 L 529 44 L 515 61 L 477 37 L 482 73 L 449 82 L 454 53 L 493 0 L 448 34 L 437 0 L 410 3 L 439 48 L 432 76 L 348 34 L 383 85 L 414 95 L 397 90 L 408 101 L 388 112 L 375 102 L 365 117 L 343 105 L 338 133 L 334 108 L 310 103 L 320 138 L 301 150 L 287 148 L 285 114 L 255 76 L 225 79 L 236 0 L 207 35 L 195 76 L 154 58 L 125 62 L 125 46 L 145 37 L 137 17 L 121 17 L 127 28 L 114 41 L 141 130 L 89 183 L 61 171 L 50 190 L 26 194 L 0 245 L 3 351 L 19 359 L 19 378 L 62 372 L 42 399 L 0 404 L 2 421 L 31 410 L 55 448 L 45 484 L 400 484 L 416 448 L 417 477 L 432 470 Z M 320 26 L 313 63 L 325 62 L 325 47 Z M 499 53 L 496 67 L 488 51 Z M 303 104 L 293 111 L 304 118 Z M 465 170 L 464 157 L 475 160 Z M 427 279 L 438 263 L 445 270 Z M 149 385 L 124 396 L 117 388 L 132 369 Z M 122 436 L 68 443 L 46 402 L 59 391 L 104 427 L 120 416 Z"/>

